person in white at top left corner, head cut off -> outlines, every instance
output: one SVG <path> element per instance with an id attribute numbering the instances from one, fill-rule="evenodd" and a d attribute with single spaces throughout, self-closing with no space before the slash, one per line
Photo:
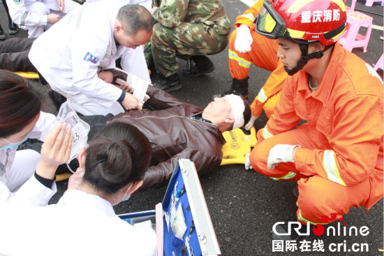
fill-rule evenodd
<path id="1" fill-rule="evenodd" d="M 62 16 L 80 6 L 72 0 L 6 0 L 13 22 L 38 37 Z"/>

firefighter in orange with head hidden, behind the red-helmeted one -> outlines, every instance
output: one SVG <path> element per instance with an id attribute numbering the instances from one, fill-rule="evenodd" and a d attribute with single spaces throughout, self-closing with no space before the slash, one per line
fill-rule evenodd
<path id="1" fill-rule="evenodd" d="M 244 98 L 248 97 L 248 72 L 252 63 L 261 69 L 272 71 L 251 105 L 253 117 L 246 125 L 246 129 L 251 128 L 263 109 L 268 118 L 272 115 L 281 87 L 287 77 L 283 64 L 276 55 L 279 45 L 255 31 L 254 22 L 262 6 L 263 0 L 257 0 L 244 14 L 237 17 L 236 29 L 230 35 L 229 41 L 229 70 L 232 85 L 223 95 L 237 93 L 242 94 Z M 219 97 L 219 95 L 215 96 Z"/>

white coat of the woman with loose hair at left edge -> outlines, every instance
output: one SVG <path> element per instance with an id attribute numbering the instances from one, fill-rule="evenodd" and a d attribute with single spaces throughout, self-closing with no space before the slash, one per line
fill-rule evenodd
<path id="1" fill-rule="evenodd" d="M 38 138 L 43 141 L 43 131 L 52 130 L 55 119 L 56 117 L 52 114 L 40 112 L 40 118 L 34 129 L 27 135 L 28 138 Z M 1 164 L 6 166 L 4 173 L 0 176 L 0 204 L 46 205 L 57 189 L 55 183 L 50 189 L 34 178 L 40 154 L 34 150 L 16 150 L 16 148 L 0 150 Z"/>

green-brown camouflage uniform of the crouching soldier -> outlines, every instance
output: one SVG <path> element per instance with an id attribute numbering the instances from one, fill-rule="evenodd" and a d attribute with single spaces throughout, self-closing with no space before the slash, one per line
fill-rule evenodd
<path id="1" fill-rule="evenodd" d="M 156 71 L 163 76 L 177 72 L 176 57 L 214 55 L 228 45 L 230 20 L 221 0 L 162 0 L 154 20 L 145 59 L 149 64 L 153 56 Z"/>

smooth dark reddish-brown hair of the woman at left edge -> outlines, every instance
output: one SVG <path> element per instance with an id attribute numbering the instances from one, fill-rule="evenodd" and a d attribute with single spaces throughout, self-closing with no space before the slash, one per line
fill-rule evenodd
<path id="1" fill-rule="evenodd" d="M 31 81 L 0 69 L 0 137 L 22 131 L 40 113 L 42 97 Z"/>

